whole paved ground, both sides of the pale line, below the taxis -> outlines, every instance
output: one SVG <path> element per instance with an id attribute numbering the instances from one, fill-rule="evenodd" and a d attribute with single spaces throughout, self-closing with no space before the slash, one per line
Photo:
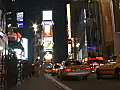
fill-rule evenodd
<path id="1" fill-rule="evenodd" d="M 120 80 L 115 80 L 111 76 L 97 80 L 95 74 L 92 74 L 87 80 L 75 77 L 60 80 L 51 74 L 44 74 L 41 69 L 38 77 L 25 80 L 11 90 L 117 90 L 118 88 Z"/>

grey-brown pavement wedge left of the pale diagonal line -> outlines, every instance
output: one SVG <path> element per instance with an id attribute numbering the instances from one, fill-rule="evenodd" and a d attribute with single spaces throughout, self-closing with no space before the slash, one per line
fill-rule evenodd
<path id="1" fill-rule="evenodd" d="M 64 90 L 52 80 L 46 78 L 44 73 L 40 73 L 38 77 L 32 77 L 23 83 L 16 85 L 16 87 L 10 90 Z"/>

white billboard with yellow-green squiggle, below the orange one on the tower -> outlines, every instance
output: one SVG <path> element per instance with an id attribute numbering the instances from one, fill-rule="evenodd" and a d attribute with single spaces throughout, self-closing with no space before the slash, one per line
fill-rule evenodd
<path id="1" fill-rule="evenodd" d="M 53 50 L 53 38 L 52 37 L 44 38 L 44 51 L 52 50 Z"/>

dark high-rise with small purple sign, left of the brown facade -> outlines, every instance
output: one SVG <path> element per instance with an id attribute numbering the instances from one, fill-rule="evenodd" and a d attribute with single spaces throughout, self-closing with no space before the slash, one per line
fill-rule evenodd
<path id="1" fill-rule="evenodd" d="M 71 8 L 72 51 L 75 59 L 102 55 L 99 0 L 73 0 Z"/>

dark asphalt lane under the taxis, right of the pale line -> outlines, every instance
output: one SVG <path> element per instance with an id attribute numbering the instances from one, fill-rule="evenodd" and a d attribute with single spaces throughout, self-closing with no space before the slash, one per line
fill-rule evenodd
<path id="1" fill-rule="evenodd" d="M 97 80 L 96 75 L 92 74 L 87 80 L 82 80 L 81 78 L 71 78 L 60 80 L 56 76 L 52 76 L 59 82 L 68 86 L 72 90 L 115 90 L 120 88 L 120 80 L 115 80 L 111 76 L 104 77 L 103 79 Z"/>

